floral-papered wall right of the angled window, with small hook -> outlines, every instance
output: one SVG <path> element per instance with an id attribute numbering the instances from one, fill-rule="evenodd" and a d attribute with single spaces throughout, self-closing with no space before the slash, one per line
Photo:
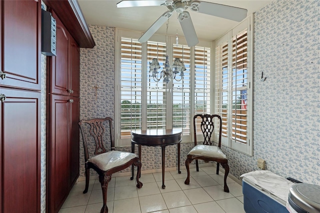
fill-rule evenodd
<path id="1" fill-rule="evenodd" d="M 225 149 L 233 175 L 263 158 L 274 173 L 320 184 L 319 14 L 319 0 L 278 0 L 256 12 L 254 156 Z"/>

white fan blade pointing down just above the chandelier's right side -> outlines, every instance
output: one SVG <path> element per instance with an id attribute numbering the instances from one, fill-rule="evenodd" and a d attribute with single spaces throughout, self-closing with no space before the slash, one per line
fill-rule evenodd
<path id="1" fill-rule="evenodd" d="M 188 46 L 196 45 L 199 40 L 196 36 L 190 14 L 187 11 L 181 12 L 179 14 L 179 21 Z"/>

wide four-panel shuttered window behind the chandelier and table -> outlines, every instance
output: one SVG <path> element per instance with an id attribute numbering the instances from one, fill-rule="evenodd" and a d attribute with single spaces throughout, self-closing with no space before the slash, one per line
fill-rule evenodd
<path id="1" fill-rule="evenodd" d="M 195 113 L 210 112 L 210 46 L 200 41 L 188 47 L 175 37 L 153 35 L 139 43 L 139 33 L 120 30 L 116 64 L 115 132 L 117 146 L 131 144 L 131 130 L 182 128 L 182 141 L 191 141 L 192 118 Z M 163 69 L 165 56 L 184 62 L 183 78 L 164 83 L 154 81 L 148 73 L 149 63 L 156 57 Z"/>

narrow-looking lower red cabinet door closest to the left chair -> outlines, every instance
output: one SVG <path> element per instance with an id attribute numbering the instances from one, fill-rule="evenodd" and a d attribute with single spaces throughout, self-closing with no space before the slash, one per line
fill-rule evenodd
<path id="1" fill-rule="evenodd" d="M 70 97 L 73 101 L 70 102 L 70 162 L 71 174 L 70 183 L 74 184 L 79 176 L 79 110 L 80 101 L 78 97 Z"/>

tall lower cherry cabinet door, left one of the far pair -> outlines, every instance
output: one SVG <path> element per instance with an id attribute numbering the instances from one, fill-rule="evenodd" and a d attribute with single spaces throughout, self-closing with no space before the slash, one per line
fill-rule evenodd
<path id="1" fill-rule="evenodd" d="M 69 97 L 64 95 L 49 95 L 51 109 L 49 115 L 50 128 L 47 143 L 47 155 L 49 163 L 48 203 L 49 212 L 57 212 L 65 200 L 70 185 L 70 161 L 69 161 Z"/>

